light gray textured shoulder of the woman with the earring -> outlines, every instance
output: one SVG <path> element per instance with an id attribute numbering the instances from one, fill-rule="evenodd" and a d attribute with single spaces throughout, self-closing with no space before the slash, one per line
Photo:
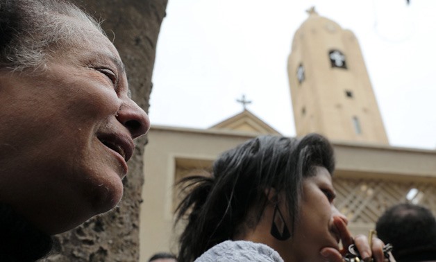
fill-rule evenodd
<path id="1" fill-rule="evenodd" d="M 224 241 L 204 252 L 195 262 L 262 261 L 283 262 L 271 247 L 250 241 Z"/>

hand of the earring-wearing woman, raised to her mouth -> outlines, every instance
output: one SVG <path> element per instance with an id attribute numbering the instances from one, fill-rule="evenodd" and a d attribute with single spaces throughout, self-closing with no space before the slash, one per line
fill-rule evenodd
<path id="1" fill-rule="evenodd" d="M 335 227 L 337 228 L 337 232 L 339 233 L 339 238 L 342 241 L 342 250 L 335 250 L 333 247 L 324 247 L 321 249 L 320 253 L 322 256 L 326 258 L 326 261 L 329 262 L 343 262 L 344 256 L 347 252 L 349 252 L 348 247 L 350 245 L 355 245 L 360 254 L 360 257 L 365 262 L 385 262 L 388 261 L 385 258 L 385 254 L 383 252 L 383 247 L 385 243 L 381 241 L 376 236 L 372 236 L 371 241 L 362 234 L 355 236 L 353 238 L 351 233 L 346 227 L 346 222 L 342 220 L 342 218 L 335 217 L 333 218 L 333 222 Z M 394 257 L 389 252 L 389 261 L 395 262 Z"/>

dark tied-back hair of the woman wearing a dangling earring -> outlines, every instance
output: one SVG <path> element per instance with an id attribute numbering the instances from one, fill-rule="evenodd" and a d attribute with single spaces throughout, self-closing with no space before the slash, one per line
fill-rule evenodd
<path id="1" fill-rule="evenodd" d="M 176 209 L 176 223 L 187 218 L 179 240 L 178 259 L 194 261 L 210 247 L 240 234 L 249 211 L 255 225 L 267 205 L 265 190 L 283 193 L 291 220 L 291 236 L 299 218 L 302 181 L 315 166 L 335 169 L 333 147 L 319 134 L 296 139 L 260 136 L 224 152 L 209 177 L 186 177 L 178 183 L 188 192 Z"/>

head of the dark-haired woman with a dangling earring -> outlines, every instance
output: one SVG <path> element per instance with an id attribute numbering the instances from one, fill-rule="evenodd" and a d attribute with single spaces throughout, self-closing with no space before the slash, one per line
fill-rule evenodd
<path id="1" fill-rule="evenodd" d="M 179 261 L 192 261 L 228 239 L 265 243 L 285 260 L 292 251 L 294 260 L 322 261 L 321 247 L 337 247 L 333 217 L 346 222 L 333 206 L 334 167 L 333 148 L 318 134 L 261 136 L 224 152 L 210 177 L 181 181 L 189 193 L 178 220 L 189 216 Z M 270 233 L 273 220 L 278 234 Z"/>

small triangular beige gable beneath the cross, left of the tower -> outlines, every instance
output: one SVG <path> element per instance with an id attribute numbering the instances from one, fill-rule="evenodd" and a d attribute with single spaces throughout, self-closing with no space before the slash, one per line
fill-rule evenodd
<path id="1" fill-rule="evenodd" d="M 249 110 L 230 117 L 208 128 L 210 130 L 233 130 L 241 132 L 253 132 L 258 134 L 280 134 L 274 128 L 255 116 Z"/>

